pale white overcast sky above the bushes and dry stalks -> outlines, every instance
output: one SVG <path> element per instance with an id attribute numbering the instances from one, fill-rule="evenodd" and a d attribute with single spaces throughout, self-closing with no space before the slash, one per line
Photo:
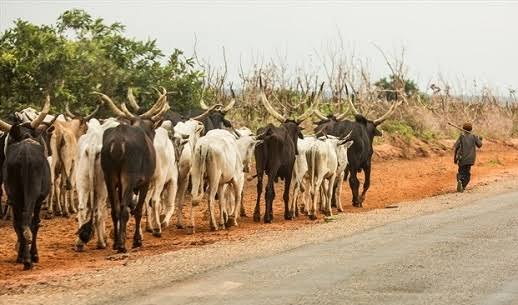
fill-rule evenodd
<path id="1" fill-rule="evenodd" d="M 422 88 L 439 74 L 455 86 L 477 80 L 502 94 L 518 88 L 518 1 L 0 0 L 0 31 L 17 18 L 55 23 L 71 8 L 119 21 L 129 36 L 156 38 L 166 54 L 191 54 L 196 35 L 199 57 L 219 65 L 224 46 L 233 77 L 240 61 L 246 67 L 259 57 L 317 67 L 315 52 L 337 44 L 341 33 L 376 77 L 388 70 L 373 43 L 387 53 L 404 47 Z"/>

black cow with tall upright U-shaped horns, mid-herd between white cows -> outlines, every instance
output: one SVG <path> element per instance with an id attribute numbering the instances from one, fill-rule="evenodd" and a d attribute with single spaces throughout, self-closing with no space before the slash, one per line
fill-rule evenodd
<path id="1" fill-rule="evenodd" d="M 263 104 L 268 113 L 277 119 L 281 125 L 274 126 L 268 124 L 264 128 L 260 128 L 257 132 L 257 139 L 261 140 L 255 148 L 255 160 L 257 171 L 257 201 L 254 209 L 254 221 L 260 221 L 260 202 L 263 188 L 263 175 L 268 176 L 268 183 L 265 189 L 265 213 L 264 222 L 271 223 L 273 220 L 273 200 L 275 198 L 274 182 L 279 178 L 284 180 L 284 219 L 293 219 L 294 215 L 290 213 L 289 190 L 292 179 L 293 166 L 295 156 L 298 154 L 297 139 L 303 138 L 302 123 L 309 118 L 314 109 L 318 106 L 320 95 L 324 84 L 320 86 L 317 94 L 311 96 L 311 106 L 300 116 L 296 118 L 287 118 L 277 112 L 268 101 L 264 92 L 262 79 L 259 78 L 260 91 L 258 100 Z"/>

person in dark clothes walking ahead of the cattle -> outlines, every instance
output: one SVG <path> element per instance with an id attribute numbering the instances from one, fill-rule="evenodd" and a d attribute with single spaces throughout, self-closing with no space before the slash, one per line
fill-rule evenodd
<path id="1" fill-rule="evenodd" d="M 459 166 L 457 173 L 457 192 L 463 192 L 471 178 L 471 166 L 475 164 L 477 147 L 482 147 L 482 137 L 471 133 L 471 123 L 462 125 L 463 132 L 455 142 L 454 163 Z"/>

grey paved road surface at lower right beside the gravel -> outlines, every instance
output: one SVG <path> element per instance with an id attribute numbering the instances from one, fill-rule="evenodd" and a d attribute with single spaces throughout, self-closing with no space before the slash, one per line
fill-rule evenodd
<path id="1" fill-rule="evenodd" d="M 216 269 L 119 301 L 518 304 L 518 192 Z"/>

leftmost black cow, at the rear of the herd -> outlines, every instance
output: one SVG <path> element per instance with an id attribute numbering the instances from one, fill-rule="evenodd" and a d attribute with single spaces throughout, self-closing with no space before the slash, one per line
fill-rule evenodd
<path id="1" fill-rule="evenodd" d="M 47 149 L 41 136 L 47 126 L 41 128 L 40 123 L 49 109 L 47 95 L 43 111 L 34 121 L 14 125 L 0 121 L 0 129 L 8 132 L 2 175 L 13 209 L 13 226 L 18 240 L 16 261 L 23 263 L 24 270 L 31 269 L 33 263 L 39 261 L 36 240 L 40 209 L 50 190 Z"/>

